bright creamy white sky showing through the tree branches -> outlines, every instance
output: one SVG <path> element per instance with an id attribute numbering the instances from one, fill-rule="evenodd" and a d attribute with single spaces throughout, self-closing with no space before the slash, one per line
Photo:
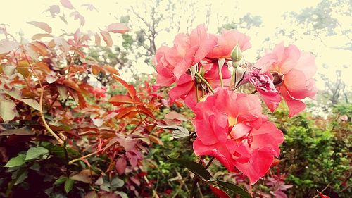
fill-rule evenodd
<path id="1" fill-rule="evenodd" d="M 54 35 L 59 35 L 65 32 L 75 32 L 77 27 L 79 27 L 78 21 L 68 20 L 68 25 L 65 25 L 58 18 L 50 18 L 49 13 L 43 13 L 44 10 L 49 8 L 53 4 L 60 4 L 58 0 L 0 0 L 2 2 L 0 11 L 0 23 L 5 23 L 10 25 L 8 27 L 8 32 L 18 32 L 22 31 L 25 37 L 30 38 L 36 33 L 40 33 L 42 30 L 27 24 L 27 21 L 43 21 L 51 25 L 53 28 Z M 106 27 L 111 23 L 118 22 L 120 16 L 129 14 L 127 13 L 127 8 L 131 5 L 141 4 L 143 1 L 112 1 L 112 0 L 71 0 L 73 6 L 77 8 L 80 13 L 86 19 L 86 24 L 82 28 L 83 30 L 93 30 L 96 31 L 100 27 L 101 29 Z M 245 53 L 246 60 L 255 62 L 256 61 L 256 51 L 263 47 L 263 40 L 265 37 L 270 37 L 270 45 L 265 46 L 265 49 L 274 47 L 275 44 L 284 41 L 285 44 L 296 44 L 299 49 L 304 51 L 311 51 L 313 54 L 317 55 L 317 65 L 318 73 L 324 73 L 330 79 L 334 79 L 335 70 L 343 70 L 342 79 L 346 85 L 352 85 L 352 75 L 351 63 L 352 63 L 352 51 L 342 51 L 327 48 L 320 42 L 313 42 L 311 37 L 302 37 L 302 39 L 297 42 L 291 42 L 286 37 L 274 37 L 277 27 L 284 27 L 291 29 L 291 25 L 287 21 L 284 21 L 281 17 L 284 13 L 294 11 L 299 13 L 303 8 L 315 6 L 318 4 L 317 0 L 266 0 L 266 1 L 256 1 L 256 0 L 196 0 L 197 10 L 193 13 L 184 13 L 184 16 L 195 16 L 194 27 L 200 23 L 205 23 L 205 13 L 206 6 L 211 4 L 212 17 L 210 18 L 210 23 L 208 24 L 209 32 L 215 33 L 221 24 L 218 24 L 215 16 L 244 16 L 246 13 L 251 13 L 253 16 L 261 16 L 263 20 L 263 27 L 253 28 L 251 31 L 246 32 L 247 35 L 251 36 L 252 48 L 247 50 Z M 93 4 L 96 6 L 99 12 L 96 11 L 85 11 L 85 7 L 82 4 Z M 350 5 L 351 6 L 351 5 Z M 66 19 L 70 19 L 68 10 L 66 11 Z M 181 11 L 180 11 L 181 12 Z M 143 15 L 142 11 L 141 14 Z M 165 13 L 167 14 L 167 13 Z M 130 13 L 131 15 L 131 13 Z M 116 18 L 115 18 L 116 17 Z M 133 18 L 132 18 L 133 20 Z M 343 25 L 349 25 L 352 28 L 351 18 L 341 19 L 340 21 Z M 182 23 L 183 24 L 183 23 Z M 181 24 L 180 31 L 186 31 L 186 27 Z M 135 25 L 135 24 L 130 24 Z M 167 26 L 168 24 L 161 24 Z M 348 27 L 348 26 L 347 26 Z M 62 29 L 62 30 L 61 30 Z M 243 31 L 242 31 L 243 32 Z M 160 46 L 161 44 L 171 44 L 175 37 L 176 32 L 168 33 L 161 32 L 158 36 L 156 44 Z M 120 35 L 112 35 L 114 40 L 120 39 Z M 325 44 L 328 46 L 336 47 L 341 44 L 346 43 L 346 39 L 341 36 L 337 37 L 322 37 Z M 329 70 L 322 67 L 325 63 L 329 65 Z M 137 69 L 139 71 L 151 72 L 150 66 L 146 66 L 142 61 L 136 63 Z M 323 89 L 323 82 L 320 78 L 318 80 L 318 88 Z"/>

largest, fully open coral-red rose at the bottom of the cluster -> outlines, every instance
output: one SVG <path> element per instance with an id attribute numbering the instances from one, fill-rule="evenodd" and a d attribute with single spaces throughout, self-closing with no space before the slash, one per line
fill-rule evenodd
<path id="1" fill-rule="evenodd" d="M 228 171 L 237 168 L 251 184 L 268 172 L 284 135 L 261 112 L 255 95 L 215 89 L 215 94 L 196 105 L 193 123 L 196 156 L 210 155 Z"/>

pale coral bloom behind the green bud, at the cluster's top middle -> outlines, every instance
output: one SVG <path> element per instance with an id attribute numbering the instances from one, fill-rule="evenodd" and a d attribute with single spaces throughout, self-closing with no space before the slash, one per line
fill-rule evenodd
<path id="1" fill-rule="evenodd" d="M 234 47 L 239 44 L 241 51 L 251 48 L 251 39 L 236 30 L 222 30 L 222 35 L 218 37 L 218 44 L 206 56 L 207 58 L 231 58 L 231 52 Z"/>

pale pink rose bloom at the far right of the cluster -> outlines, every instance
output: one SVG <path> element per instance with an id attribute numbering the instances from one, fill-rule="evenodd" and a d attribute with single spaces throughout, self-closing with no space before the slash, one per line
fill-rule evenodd
<path id="1" fill-rule="evenodd" d="M 294 116 L 306 108 L 301 101 L 306 97 L 315 98 L 315 57 L 300 51 L 296 46 L 277 44 L 275 49 L 259 59 L 255 64 L 260 68 L 260 74 L 270 71 L 274 85 L 282 94 L 289 107 L 289 116 Z"/>

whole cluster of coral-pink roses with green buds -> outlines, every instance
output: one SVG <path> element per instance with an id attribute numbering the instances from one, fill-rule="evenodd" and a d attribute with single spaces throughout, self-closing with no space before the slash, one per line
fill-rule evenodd
<path id="1" fill-rule="evenodd" d="M 189 35 L 177 35 L 172 47 L 160 47 L 153 62 L 158 73 L 154 87 L 175 83 L 170 102 L 181 99 L 196 114 L 194 153 L 214 156 L 253 184 L 269 170 L 284 141 L 263 115 L 260 98 L 270 111 L 283 98 L 289 116 L 296 115 L 306 107 L 302 99 L 315 97 L 316 66 L 313 55 L 284 44 L 251 64 L 241 53 L 251 47 L 249 40 L 236 30 L 213 35 L 199 25 Z M 246 84 L 252 94 L 244 92 Z"/>

